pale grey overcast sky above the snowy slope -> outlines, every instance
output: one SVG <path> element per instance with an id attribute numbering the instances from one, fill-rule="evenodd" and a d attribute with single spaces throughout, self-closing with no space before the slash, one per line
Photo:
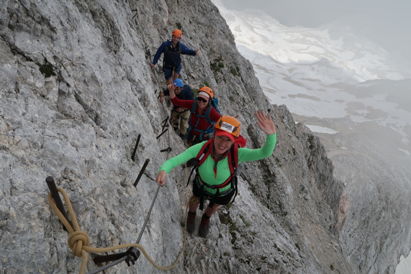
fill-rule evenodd
<path id="1" fill-rule="evenodd" d="M 283 25 L 319 27 L 336 21 L 374 40 L 411 66 L 410 0 L 221 0 L 229 10 L 263 10 Z"/>

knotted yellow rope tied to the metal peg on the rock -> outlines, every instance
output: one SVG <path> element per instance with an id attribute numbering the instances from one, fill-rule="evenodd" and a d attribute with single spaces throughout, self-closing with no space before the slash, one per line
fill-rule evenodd
<path id="1" fill-rule="evenodd" d="M 175 262 L 171 266 L 167 266 L 167 267 L 162 267 L 162 266 L 158 266 L 157 264 L 155 264 L 153 259 L 151 259 L 151 257 L 147 253 L 147 251 L 140 244 L 130 243 L 130 244 L 116 245 L 116 246 L 113 246 L 113 247 L 104 247 L 104 248 L 90 247 L 89 246 L 90 245 L 90 238 L 88 237 L 86 232 L 82 232 L 80 230 L 79 224 L 77 223 L 77 219 L 76 219 L 75 214 L 74 214 L 73 207 L 71 206 L 69 195 L 67 195 L 67 193 L 62 188 L 57 188 L 57 190 L 63 195 L 64 202 L 66 203 L 66 207 L 69 210 L 70 218 L 71 218 L 71 221 L 73 222 L 73 227 L 74 228 L 71 227 L 69 221 L 66 220 L 66 218 L 64 217 L 62 212 L 60 212 L 60 210 L 55 205 L 55 203 L 53 201 L 53 198 L 51 197 L 51 193 L 49 193 L 49 197 L 48 197 L 49 203 L 50 203 L 51 208 L 55 212 L 55 214 L 57 214 L 58 219 L 60 219 L 60 221 L 62 221 L 64 227 L 66 227 L 67 231 L 69 232 L 68 243 L 69 243 L 69 247 L 70 247 L 73 255 L 78 257 L 78 258 L 83 258 L 82 266 L 80 267 L 79 274 L 83 274 L 83 273 L 86 272 L 87 258 L 88 258 L 87 257 L 87 252 L 102 253 L 102 252 L 108 252 L 108 251 L 112 251 L 112 250 L 116 250 L 116 249 L 123 249 L 123 248 L 127 248 L 127 247 L 137 247 L 138 249 L 140 249 L 141 252 L 144 254 L 144 256 L 147 258 L 147 260 L 149 260 L 149 262 L 151 262 L 151 264 L 153 264 L 153 266 L 155 266 L 157 269 L 169 270 L 169 269 L 172 269 L 174 266 L 177 265 L 177 262 L 178 262 L 179 258 L 182 256 L 182 253 L 184 252 L 184 248 L 186 247 L 186 235 L 187 235 L 186 227 L 184 229 L 184 242 L 183 242 L 182 250 L 180 251 L 179 255 L 177 256 L 177 259 L 175 260 Z M 188 201 L 188 203 L 190 203 L 190 201 Z M 187 212 L 188 212 L 188 203 L 187 203 L 187 207 L 186 207 L 186 215 L 187 215 Z M 187 223 L 186 223 L 186 226 L 187 226 Z"/>

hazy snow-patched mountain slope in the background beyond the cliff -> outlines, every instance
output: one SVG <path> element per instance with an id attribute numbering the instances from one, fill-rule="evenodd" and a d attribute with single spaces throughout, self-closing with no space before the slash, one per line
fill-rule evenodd
<path id="1" fill-rule="evenodd" d="M 358 249 L 354 251 L 347 247 L 349 260 L 359 269 L 367 269 L 366 273 L 370 269 L 372 273 L 381 272 L 386 266 L 372 263 L 373 259 L 364 255 L 373 257 L 374 253 L 367 246 L 375 245 L 375 242 L 384 245 L 381 254 L 393 254 L 392 261 L 397 260 L 398 253 L 406 256 L 410 244 L 401 239 L 410 238 L 405 227 L 410 219 L 407 213 L 410 204 L 406 197 L 410 195 L 411 184 L 408 171 L 411 132 L 409 105 L 403 102 L 409 101 L 410 79 L 404 79 L 389 60 L 388 53 L 375 43 L 347 35 L 346 30 L 332 38 L 336 32 L 329 31 L 333 27 L 331 24 L 319 29 L 293 27 L 288 33 L 290 27 L 282 26 L 264 12 L 230 11 L 221 5 L 219 8 L 234 33 L 240 53 L 251 60 L 266 95 L 272 102 L 285 103 L 295 120 L 310 127 L 325 145 L 336 177 L 344 182 L 351 201 L 343 239 Z M 242 26 L 253 27 L 245 30 Z M 303 34 L 299 34 L 299 30 Z M 256 42 L 262 33 L 275 43 Z M 297 38 L 306 35 L 312 41 L 321 41 L 323 47 L 305 51 L 308 55 L 301 62 L 301 49 L 307 43 L 292 38 L 294 33 Z M 352 44 L 353 47 L 347 47 L 347 41 L 348 46 Z M 282 49 L 288 51 L 285 58 L 277 53 L 277 47 L 279 52 L 284 52 Z M 316 61 L 316 58 L 321 59 Z M 338 69 L 339 64 L 344 66 Z M 370 201 L 369 196 L 376 198 Z M 393 209 L 381 210 L 380 203 L 390 203 L 400 212 L 399 219 L 390 220 L 390 210 Z M 357 211 L 364 216 L 358 216 Z M 358 224 L 369 223 L 367 216 L 373 219 L 371 223 L 377 222 L 381 229 L 390 232 L 384 236 L 375 232 L 370 235 L 366 232 L 368 228 Z M 375 218 L 380 219 L 375 221 Z M 387 222 L 395 223 L 397 228 L 389 228 Z M 345 230 L 350 232 L 347 234 Z M 367 242 L 358 236 L 364 232 L 364 238 L 369 239 Z M 395 238 L 395 243 L 388 245 L 385 242 L 390 241 L 388 238 Z M 354 244 L 355 241 L 362 243 Z M 394 253 L 393 249 L 396 249 Z M 391 265 L 389 268 L 393 271 L 395 267 Z"/>

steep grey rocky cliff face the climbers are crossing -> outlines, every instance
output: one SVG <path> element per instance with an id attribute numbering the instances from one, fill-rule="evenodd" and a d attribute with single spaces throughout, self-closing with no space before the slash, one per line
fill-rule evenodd
<path id="1" fill-rule="evenodd" d="M 197 58 L 183 56 L 184 81 L 208 84 L 222 114 L 239 115 L 249 148 L 264 143 L 253 113 L 270 111 L 278 142 L 270 158 L 245 165 L 236 202 L 212 217 L 207 238 L 188 236 L 170 273 L 357 272 L 338 239 L 349 201 L 323 146 L 284 105 L 269 104 L 210 1 L 3 2 L 1 271 L 79 271 L 81 259 L 49 207 L 47 176 L 68 193 L 92 247 L 136 242 L 160 164 L 185 149 L 173 132 L 156 138 L 168 108 L 155 93 L 164 88 L 160 68 L 148 65 L 179 27 L 182 42 L 200 49 Z M 160 152 L 167 147 L 171 153 Z M 188 172 L 169 174 L 140 240 L 160 266 L 171 265 L 183 246 Z M 87 267 L 99 265 L 88 260 Z M 143 256 L 106 273 L 135 272 L 162 273 Z"/>

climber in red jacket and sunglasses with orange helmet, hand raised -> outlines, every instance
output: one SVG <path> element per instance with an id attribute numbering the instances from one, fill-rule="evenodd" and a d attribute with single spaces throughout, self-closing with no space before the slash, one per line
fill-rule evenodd
<path id="1" fill-rule="evenodd" d="M 208 86 L 199 89 L 195 100 L 180 100 L 175 96 L 173 85 L 168 86 L 170 99 L 173 105 L 188 108 L 190 114 L 190 126 L 188 127 L 186 140 L 188 144 L 195 145 L 203 140 L 209 140 L 214 132 L 213 126 L 221 118 L 221 114 L 210 104 L 214 93 Z M 194 109 L 194 110 L 193 110 Z"/>

